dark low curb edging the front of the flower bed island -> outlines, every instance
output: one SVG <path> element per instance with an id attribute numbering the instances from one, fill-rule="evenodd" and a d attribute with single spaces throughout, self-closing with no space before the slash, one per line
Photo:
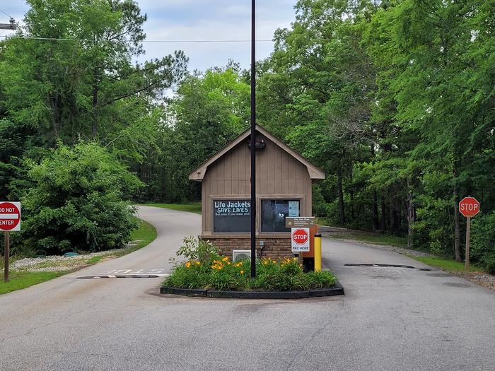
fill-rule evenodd
<path id="1" fill-rule="evenodd" d="M 318 288 L 304 291 L 218 291 L 187 288 L 160 288 L 161 294 L 197 296 L 222 299 L 306 299 L 324 296 L 345 295 L 339 281 L 332 288 Z"/>

